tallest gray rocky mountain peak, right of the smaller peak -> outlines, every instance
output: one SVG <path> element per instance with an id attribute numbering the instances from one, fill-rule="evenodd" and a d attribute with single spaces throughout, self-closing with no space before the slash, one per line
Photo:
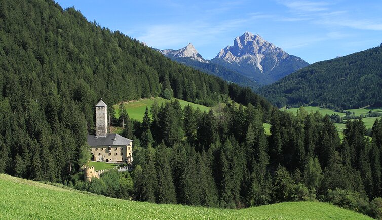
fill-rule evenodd
<path id="1" fill-rule="evenodd" d="M 230 67 L 262 84 L 270 84 L 309 65 L 249 32 L 236 37 L 234 45 L 221 49 L 211 62 Z"/>

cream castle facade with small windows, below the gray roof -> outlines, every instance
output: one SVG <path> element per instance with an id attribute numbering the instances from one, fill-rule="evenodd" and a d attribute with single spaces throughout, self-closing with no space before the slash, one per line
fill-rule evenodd
<path id="1" fill-rule="evenodd" d="M 103 162 L 132 162 L 132 144 L 123 146 L 92 146 L 91 152 L 95 161 Z"/>

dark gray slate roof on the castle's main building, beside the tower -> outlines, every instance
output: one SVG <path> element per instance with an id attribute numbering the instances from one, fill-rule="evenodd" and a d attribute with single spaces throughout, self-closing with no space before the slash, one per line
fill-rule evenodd
<path id="1" fill-rule="evenodd" d="M 113 133 L 106 134 L 106 137 L 88 135 L 88 145 L 90 146 L 129 145 L 131 142 L 132 140 Z"/>

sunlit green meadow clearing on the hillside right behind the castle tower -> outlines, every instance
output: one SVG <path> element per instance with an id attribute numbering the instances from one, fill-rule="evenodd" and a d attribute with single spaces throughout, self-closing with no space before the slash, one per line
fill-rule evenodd
<path id="1" fill-rule="evenodd" d="M 148 107 L 148 109 L 150 109 L 150 107 L 152 106 L 154 101 L 156 101 L 159 106 L 162 103 L 170 102 L 170 100 L 163 99 L 162 97 L 157 97 L 157 98 L 152 98 L 152 99 L 142 99 L 142 100 L 138 100 L 138 101 L 126 102 L 126 103 L 124 103 L 124 106 L 125 106 L 127 113 L 129 114 L 129 117 L 131 119 L 135 119 L 137 121 L 142 121 L 146 107 Z M 187 101 L 184 101 L 181 99 L 178 99 L 178 101 L 183 108 L 184 108 L 184 106 L 189 104 L 194 109 L 199 107 L 199 109 L 201 111 L 209 111 L 210 110 L 210 107 L 207 107 L 204 105 L 199 105 L 199 104 L 195 104 L 192 102 L 187 102 Z M 116 112 L 116 118 L 118 118 L 120 116 L 119 105 L 113 105 L 113 108 L 114 108 L 114 111 Z"/>

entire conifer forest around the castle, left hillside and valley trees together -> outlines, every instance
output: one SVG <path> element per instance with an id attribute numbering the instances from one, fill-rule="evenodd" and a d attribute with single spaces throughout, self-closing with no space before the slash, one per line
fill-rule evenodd
<path id="1" fill-rule="evenodd" d="M 378 120 L 371 140 L 361 120 L 348 122 L 341 140 L 328 116 L 281 112 L 248 87 L 171 61 L 51 0 L 0 0 L 0 42 L 0 173 L 207 207 L 319 200 L 375 216 L 382 203 Z M 134 139 L 132 171 L 84 182 L 99 99 L 111 106 L 157 96 L 224 105 L 201 112 L 173 101 L 147 109 L 142 122 L 121 109 L 122 135 Z"/>

